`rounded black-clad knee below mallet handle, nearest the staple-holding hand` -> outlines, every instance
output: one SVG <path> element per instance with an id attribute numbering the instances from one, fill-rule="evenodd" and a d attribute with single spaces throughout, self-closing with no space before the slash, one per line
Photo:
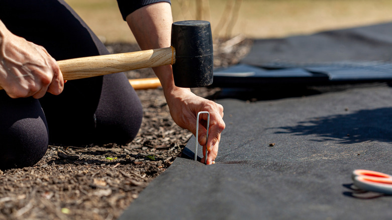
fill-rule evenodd
<path id="1" fill-rule="evenodd" d="M 100 103 L 95 111 L 96 144 L 128 144 L 139 132 L 143 109 L 124 74 L 104 76 Z"/>

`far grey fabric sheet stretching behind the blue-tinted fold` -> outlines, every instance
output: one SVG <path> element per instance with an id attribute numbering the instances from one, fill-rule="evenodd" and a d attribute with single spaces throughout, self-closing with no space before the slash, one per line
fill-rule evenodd
<path id="1" fill-rule="evenodd" d="M 392 61 L 392 23 L 255 40 L 241 63 L 283 68 L 342 61 Z"/>

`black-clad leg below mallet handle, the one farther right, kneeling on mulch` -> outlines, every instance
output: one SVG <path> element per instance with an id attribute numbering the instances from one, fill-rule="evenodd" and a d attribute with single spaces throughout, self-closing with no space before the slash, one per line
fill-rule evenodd
<path id="1" fill-rule="evenodd" d="M 40 99 L 50 143 L 127 144 L 135 138 L 142 106 L 124 74 L 74 80 L 65 85 L 60 95 L 46 94 Z"/>

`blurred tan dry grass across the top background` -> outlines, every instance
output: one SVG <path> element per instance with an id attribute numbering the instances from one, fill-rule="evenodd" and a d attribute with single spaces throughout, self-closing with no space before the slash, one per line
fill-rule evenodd
<path id="1" fill-rule="evenodd" d="M 135 42 L 116 0 L 65 0 L 107 43 Z M 130 0 L 132 1 L 132 0 Z M 214 37 L 275 38 L 392 21 L 392 0 L 172 0 L 174 21 L 211 22 Z"/>

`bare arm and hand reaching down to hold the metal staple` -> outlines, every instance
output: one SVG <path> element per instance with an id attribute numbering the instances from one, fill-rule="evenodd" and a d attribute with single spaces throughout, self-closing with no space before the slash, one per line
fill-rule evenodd
<path id="1" fill-rule="evenodd" d="M 138 9 L 127 17 L 127 23 L 142 50 L 170 47 L 173 23 L 170 4 L 156 3 Z M 198 112 L 210 113 L 209 140 L 206 140 L 206 128 L 200 126 L 199 142 L 204 148 L 207 145 L 207 164 L 212 164 L 218 154 L 221 133 L 225 129 L 222 105 L 199 97 L 188 88 L 176 87 L 171 65 L 155 67 L 153 70 L 161 81 L 171 117 L 178 126 L 195 134 Z M 206 114 L 203 114 L 203 117 L 207 120 Z"/>

